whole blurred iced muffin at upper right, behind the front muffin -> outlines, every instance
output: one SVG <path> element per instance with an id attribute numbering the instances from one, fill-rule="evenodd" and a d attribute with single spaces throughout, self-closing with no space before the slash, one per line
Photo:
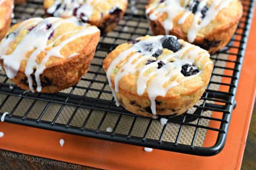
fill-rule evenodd
<path id="1" fill-rule="evenodd" d="M 155 35 L 170 34 L 214 53 L 230 41 L 243 9 L 239 0 L 149 0 Z"/>

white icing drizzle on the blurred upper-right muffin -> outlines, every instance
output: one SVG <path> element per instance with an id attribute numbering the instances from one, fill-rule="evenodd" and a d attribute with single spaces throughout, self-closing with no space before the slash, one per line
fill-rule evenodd
<path id="1" fill-rule="evenodd" d="M 198 31 L 202 28 L 206 27 L 212 20 L 216 17 L 221 9 L 226 8 L 229 6 L 232 0 L 214 0 L 209 9 L 207 10 L 205 17 L 202 17 L 201 10 L 207 3 L 207 0 L 201 0 L 197 11 L 195 12 L 192 25 L 189 28 L 187 33 L 188 41 L 194 42 L 195 37 L 197 36 Z M 187 17 L 192 14 L 189 11 L 187 6 L 191 5 L 193 0 L 185 0 L 183 6 L 181 6 L 180 0 L 165 0 L 163 3 L 154 3 L 146 10 L 146 14 L 148 14 L 152 9 L 154 12 L 149 15 L 149 19 L 154 21 L 156 20 L 161 14 L 167 13 L 168 18 L 163 21 L 163 27 L 165 28 L 166 34 L 169 34 L 169 31 L 173 28 L 173 19 L 180 14 L 181 11 L 184 11 L 184 14 L 178 20 L 178 24 L 183 24 Z"/>

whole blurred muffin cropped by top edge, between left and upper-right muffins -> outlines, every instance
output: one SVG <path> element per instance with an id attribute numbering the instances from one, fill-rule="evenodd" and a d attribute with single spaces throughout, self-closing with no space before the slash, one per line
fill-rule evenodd
<path id="1" fill-rule="evenodd" d="M 112 31 L 122 19 L 127 0 L 44 0 L 49 16 L 76 16 L 84 23 L 97 26 L 102 32 Z"/>

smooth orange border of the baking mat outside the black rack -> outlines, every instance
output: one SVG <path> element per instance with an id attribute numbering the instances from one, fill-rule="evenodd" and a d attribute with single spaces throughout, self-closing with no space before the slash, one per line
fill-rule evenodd
<path id="1" fill-rule="evenodd" d="M 0 123 L 0 131 L 5 133 L 0 139 L 0 148 L 102 169 L 240 170 L 256 96 L 256 14 L 251 28 L 236 94 L 237 107 L 232 114 L 225 147 L 215 156 L 192 156 L 156 149 L 145 153 L 143 147 L 6 122 Z M 64 147 L 59 145 L 61 138 L 65 139 Z"/>

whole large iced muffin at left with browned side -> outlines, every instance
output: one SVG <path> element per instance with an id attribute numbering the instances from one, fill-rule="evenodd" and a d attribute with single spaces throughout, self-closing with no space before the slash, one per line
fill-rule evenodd
<path id="1" fill-rule="evenodd" d="M 87 73 L 99 37 L 96 26 L 75 17 L 32 18 L 9 29 L 0 42 L 0 64 L 22 89 L 55 93 Z"/>

